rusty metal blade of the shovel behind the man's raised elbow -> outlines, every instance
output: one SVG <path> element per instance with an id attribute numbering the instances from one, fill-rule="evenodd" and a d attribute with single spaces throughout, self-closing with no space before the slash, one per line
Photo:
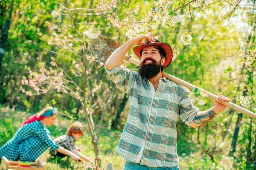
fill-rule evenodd
<path id="1" fill-rule="evenodd" d="M 116 48 L 120 47 L 120 45 L 121 42 L 100 35 L 92 40 L 90 52 L 96 60 L 105 63 L 108 57 L 116 50 Z"/>

